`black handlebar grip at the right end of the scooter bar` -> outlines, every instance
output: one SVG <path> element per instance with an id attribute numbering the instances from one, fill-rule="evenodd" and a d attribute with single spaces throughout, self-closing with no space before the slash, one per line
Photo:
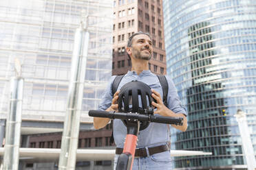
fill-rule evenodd
<path id="1" fill-rule="evenodd" d="M 158 115 L 151 115 L 149 119 L 151 122 L 156 122 L 156 123 L 183 125 L 182 117 L 162 117 Z"/>

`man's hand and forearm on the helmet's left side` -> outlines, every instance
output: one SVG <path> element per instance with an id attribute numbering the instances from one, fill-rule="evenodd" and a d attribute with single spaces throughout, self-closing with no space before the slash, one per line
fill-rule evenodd
<path id="1" fill-rule="evenodd" d="M 118 111 L 118 94 L 119 94 L 119 91 L 117 91 L 114 94 L 111 106 L 109 108 L 107 108 L 107 110 L 106 110 L 107 112 Z M 107 125 L 107 123 L 109 123 L 109 121 L 110 121 L 109 118 L 94 117 L 94 128 L 96 130 L 103 128 L 103 127 L 105 127 L 105 125 Z"/>

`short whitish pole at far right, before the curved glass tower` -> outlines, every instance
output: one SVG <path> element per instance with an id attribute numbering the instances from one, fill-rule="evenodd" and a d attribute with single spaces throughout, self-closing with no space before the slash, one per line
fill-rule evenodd
<path id="1" fill-rule="evenodd" d="M 248 170 L 254 170 L 256 169 L 256 161 L 253 151 L 253 144 L 250 140 L 250 133 L 246 121 L 246 114 L 242 110 L 237 110 L 237 114 L 235 114 L 235 117 L 237 119 L 240 135 L 242 138 L 242 145 L 244 148 L 244 154 L 246 157 Z"/>

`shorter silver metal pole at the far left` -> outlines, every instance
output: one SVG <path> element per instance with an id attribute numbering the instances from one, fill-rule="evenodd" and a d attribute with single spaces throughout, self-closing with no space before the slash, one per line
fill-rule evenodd
<path id="1" fill-rule="evenodd" d="M 19 167 L 22 98 L 23 79 L 21 77 L 11 77 L 10 110 L 6 121 L 6 144 L 4 145 L 3 169 L 16 170 Z"/>

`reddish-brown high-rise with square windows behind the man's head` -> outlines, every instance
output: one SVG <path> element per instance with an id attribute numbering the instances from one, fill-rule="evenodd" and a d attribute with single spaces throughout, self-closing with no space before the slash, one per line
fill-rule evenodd
<path id="1" fill-rule="evenodd" d="M 156 74 L 166 73 L 162 0 L 114 0 L 112 74 L 122 75 L 131 69 L 127 56 L 128 38 L 134 32 L 151 34 L 153 54 L 149 69 Z"/>

